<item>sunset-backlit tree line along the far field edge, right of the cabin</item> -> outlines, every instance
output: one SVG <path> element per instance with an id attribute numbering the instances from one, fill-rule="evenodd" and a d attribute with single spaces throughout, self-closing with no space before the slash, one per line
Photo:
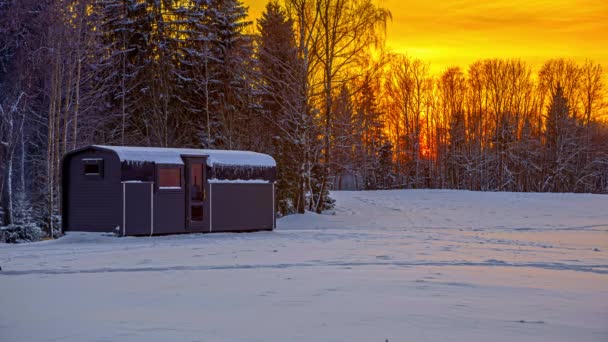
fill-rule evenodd
<path id="1" fill-rule="evenodd" d="M 381 73 L 338 111 L 339 187 L 608 192 L 601 65 L 490 59 L 433 76 L 388 56 Z"/>

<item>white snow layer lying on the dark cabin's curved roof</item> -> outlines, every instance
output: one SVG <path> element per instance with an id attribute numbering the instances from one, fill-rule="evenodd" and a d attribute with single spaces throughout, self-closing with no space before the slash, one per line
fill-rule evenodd
<path id="1" fill-rule="evenodd" d="M 183 164 L 183 155 L 207 157 L 207 165 L 274 167 L 274 158 L 249 151 L 204 150 L 195 148 L 135 147 L 93 145 L 116 152 L 120 161 Z"/>

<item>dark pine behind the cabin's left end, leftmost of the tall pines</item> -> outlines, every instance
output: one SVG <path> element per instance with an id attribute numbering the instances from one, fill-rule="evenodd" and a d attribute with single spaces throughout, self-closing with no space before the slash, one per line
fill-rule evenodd
<path id="1" fill-rule="evenodd" d="M 100 0 L 97 14 L 97 61 L 93 64 L 100 102 L 109 120 L 106 141 L 122 145 L 149 142 L 144 109 L 152 21 L 146 2 Z M 150 71 L 148 71 L 150 73 Z"/>

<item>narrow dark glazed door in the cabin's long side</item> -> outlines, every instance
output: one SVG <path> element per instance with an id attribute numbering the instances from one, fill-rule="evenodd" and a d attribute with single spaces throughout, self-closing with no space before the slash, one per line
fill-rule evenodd
<path id="1" fill-rule="evenodd" d="M 205 160 L 186 159 L 186 224 L 188 231 L 206 232 L 209 230 L 207 213 L 207 194 L 205 189 Z"/>

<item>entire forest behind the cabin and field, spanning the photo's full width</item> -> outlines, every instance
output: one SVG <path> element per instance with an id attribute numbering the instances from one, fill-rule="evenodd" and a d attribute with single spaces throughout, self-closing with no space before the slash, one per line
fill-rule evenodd
<path id="1" fill-rule="evenodd" d="M 386 47 L 391 20 L 372 0 L 255 22 L 239 0 L 0 0 L 3 234 L 60 234 L 61 159 L 90 144 L 268 153 L 281 216 L 340 189 L 608 193 L 601 64 L 432 73 Z"/>

